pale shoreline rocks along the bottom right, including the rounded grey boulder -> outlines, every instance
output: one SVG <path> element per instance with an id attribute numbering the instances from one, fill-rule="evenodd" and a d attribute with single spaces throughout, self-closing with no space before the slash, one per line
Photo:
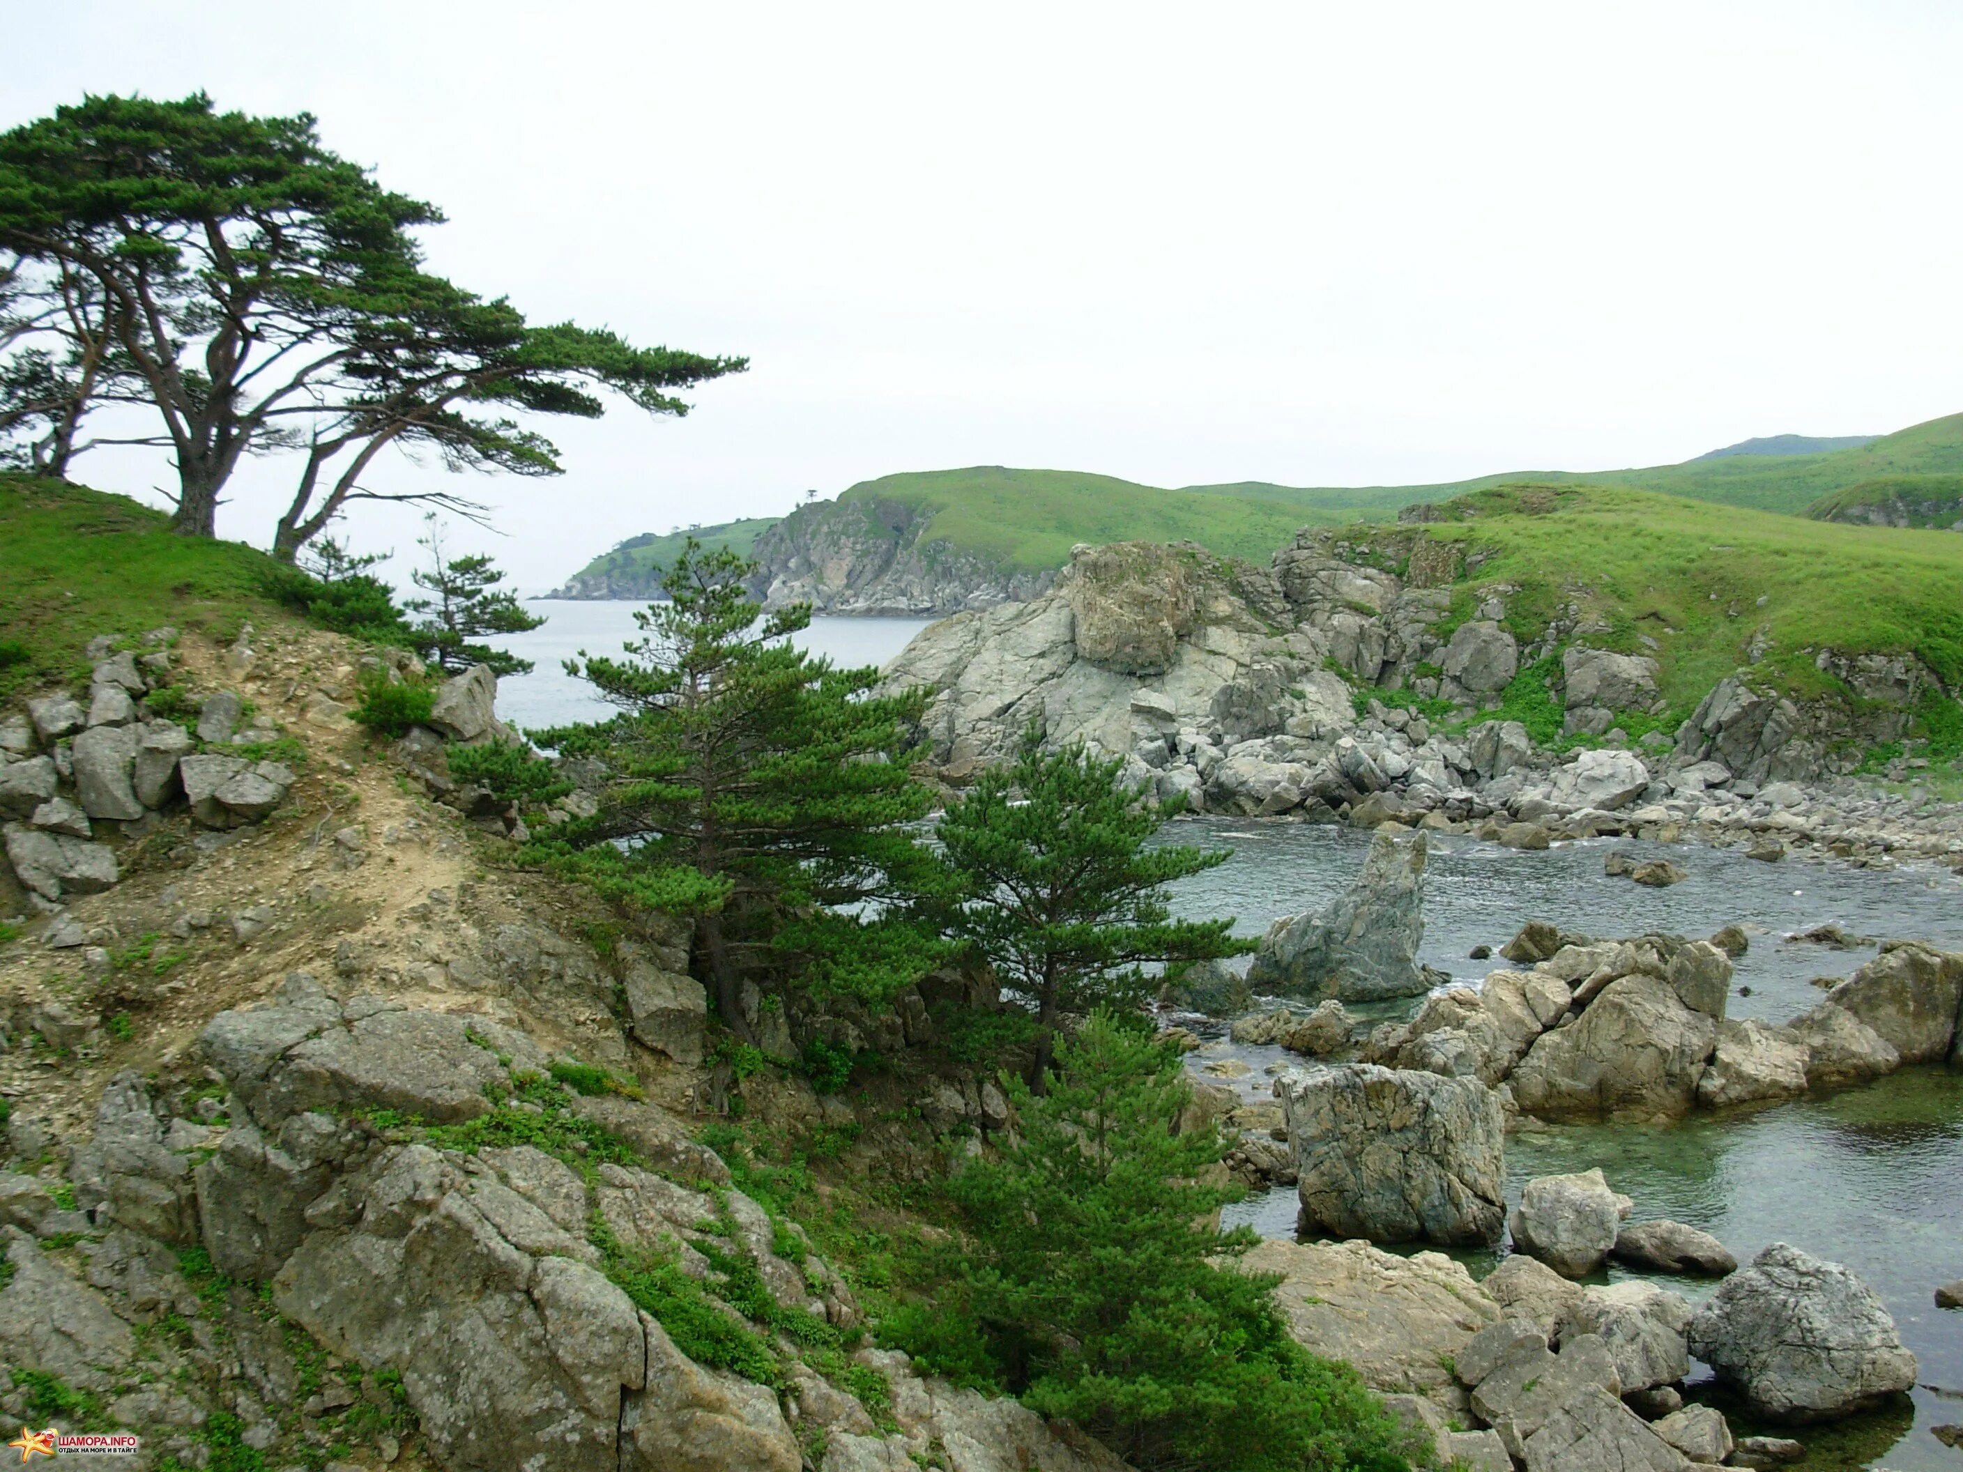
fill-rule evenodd
<path id="1" fill-rule="evenodd" d="M 1600 1254 L 1651 1272 L 1729 1274 L 1702 1307 L 1645 1278 L 1584 1286 L 1517 1250 L 1484 1282 L 1439 1252 L 1392 1254 L 1366 1240 L 1270 1240 L 1243 1258 L 1280 1278 L 1292 1335 L 1347 1360 L 1435 1446 L 1439 1466 L 1478 1472 L 1596 1472 L 1775 1466 L 1788 1437 L 1733 1437 L 1686 1401 L 1692 1356 L 1751 1411 L 1806 1425 L 1853 1415 L 1914 1384 L 1881 1301 L 1839 1264 L 1786 1244 L 1747 1268 L 1676 1223 L 1623 1223 L 1598 1172 L 1529 1185 L 1543 1250 L 1600 1268 Z M 1604 1246 L 1604 1238 L 1608 1244 Z"/>

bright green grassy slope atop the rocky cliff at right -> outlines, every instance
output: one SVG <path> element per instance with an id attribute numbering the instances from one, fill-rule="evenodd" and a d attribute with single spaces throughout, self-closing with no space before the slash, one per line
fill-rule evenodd
<path id="1" fill-rule="evenodd" d="M 1460 500 L 1427 534 L 1488 555 L 1455 595 L 1513 583 L 1508 624 L 1539 638 L 1566 605 L 1602 632 L 1590 644 L 1653 654 L 1665 697 L 1688 712 L 1751 663 L 1782 689 L 1835 689 L 1814 656 L 1914 652 L 1963 689 L 1963 538 L 1855 528 L 1712 506 L 1623 487 L 1500 487 Z M 1655 644 L 1645 644 L 1645 636 Z"/>

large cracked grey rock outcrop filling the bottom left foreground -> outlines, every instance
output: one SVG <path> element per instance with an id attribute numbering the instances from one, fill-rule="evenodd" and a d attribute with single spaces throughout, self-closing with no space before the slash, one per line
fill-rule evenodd
<path id="1" fill-rule="evenodd" d="M 1074 1427 L 925 1378 L 905 1354 L 862 1348 L 854 1378 L 836 1366 L 826 1378 L 779 1339 L 777 1386 L 693 1360 L 683 1329 L 609 1276 L 612 1256 L 662 1258 L 703 1284 L 736 1256 L 754 1266 L 768 1313 L 852 1329 L 860 1309 L 803 1233 L 654 1103 L 565 1099 L 630 1146 L 632 1164 L 534 1144 L 448 1150 L 385 1123 L 461 1125 L 501 1107 L 518 1076 L 552 1062 L 518 1028 L 292 973 L 267 1005 L 212 1019 L 198 1054 L 216 1087 L 194 1099 L 135 1074 L 110 1083 L 94 1138 L 69 1162 L 73 1205 L 45 1174 L 0 1172 L 12 1266 L 0 1411 L 26 1403 L 10 1372 L 31 1370 L 98 1395 L 159 1454 L 196 1462 L 194 1433 L 218 1409 L 271 1454 L 304 1331 L 326 1374 L 298 1407 L 302 1427 L 393 1372 L 418 1452 L 438 1466 L 866 1472 L 938 1458 L 1125 1472 Z M 26 1117 L 10 1123 L 18 1160 L 51 1146 Z M 57 1246 L 73 1246 L 79 1272 Z M 247 1288 L 200 1297 L 179 1268 L 188 1246 L 261 1284 L 285 1325 L 269 1329 Z M 713 1313 L 746 1323 L 734 1307 Z M 139 1333 L 167 1315 L 192 1323 L 188 1342 Z M 760 1342 L 769 1333 L 748 1327 Z M 889 1419 L 875 1423 L 852 1393 L 860 1370 L 883 1384 Z M 387 1439 L 383 1458 L 398 1450 Z"/>

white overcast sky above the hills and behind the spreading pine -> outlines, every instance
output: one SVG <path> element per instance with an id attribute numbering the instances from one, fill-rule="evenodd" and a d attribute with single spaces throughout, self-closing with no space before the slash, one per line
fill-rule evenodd
<path id="1" fill-rule="evenodd" d="M 446 210 L 461 285 L 752 359 L 685 420 L 544 426 L 557 481 L 461 485 L 508 536 L 459 542 L 526 591 L 901 469 L 1441 481 L 1963 408 L 1953 0 L 10 0 L 4 31 L 4 126 L 82 90 L 312 110 Z M 220 532 L 265 544 L 291 473 Z"/>

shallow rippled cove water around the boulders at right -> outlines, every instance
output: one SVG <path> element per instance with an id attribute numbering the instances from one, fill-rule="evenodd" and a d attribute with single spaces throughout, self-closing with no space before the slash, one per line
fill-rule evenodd
<path id="1" fill-rule="evenodd" d="M 1260 934 L 1278 915 L 1325 903 L 1362 864 L 1368 834 L 1335 826 L 1192 818 L 1168 828 L 1174 842 L 1233 850 L 1219 869 L 1180 887 L 1184 915 L 1235 915 L 1243 934 Z M 1671 889 L 1643 889 L 1602 873 L 1612 846 L 1667 854 L 1690 871 Z M 1590 840 L 1531 854 L 1470 838 L 1433 840 L 1427 871 L 1423 960 L 1472 981 L 1502 960 L 1470 962 L 1474 944 L 1498 948 L 1523 920 L 1545 919 L 1598 936 L 1674 930 L 1706 936 L 1739 922 L 1751 952 L 1737 962 L 1733 1017 L 1786 1021 L 1820 999 L 1812 977 L 1849 975 L 1873 956 L 1865 946 L 1826 950 L 1782 936 L 1833 922 L 1853 934 L 1932 940 L 1963 950 L 1963 883 L 1936 867 L 1855 869 L 1790 858 L 1759 864 L 1743 854 L 1676 844 L 1657 848 Z M 1739 995 L 1751 987 L 1749 995 Z M 1415 1009 L 1415 999 L 1409 1003 Z M 1372 1009 L 1374 1011 L 1374 1009 Z M 1407 1011 L 1407 1009 L 1400 1009 Z M 1213 1030 L 1213 1028 L 1209 1028 Z M 1205 1064 L 1235 1058 L 1248 1074 L 1231 1083 L 1247 1099 L 1268 1099 L 1270 1066 L 1301 1060 L 1280 1048 L 1225 1040 L 1192 1054 Z M 1902 1342 L 1920 1360 L 1920 1386 L 1900 1405 L 1831 1427 L 1800 1427 L 1804 1472 L 1894 1468 L 1955 1472 L 1963 1454 L 1930 1427 L 1963 1423 L 1963 1311 L 1937 1309 L 1937 1284 L 1963 1278 L 1963 1074 L 1910 1068 L 1859 1089 L 1773 1107 L 1700 1113 L 1672 1127 L 1533 1127 L 1506 1142 L 1510 1199 L 1535 1176 L 1600 1166 L 1635 1199 L 1635 1217 L 1702 1227 L 1749 1262 L 1767 1242 L 1792 1242 L 1845 1262 L 1881 1293 Z M 1296 1191 L 1280 1187 L 1231 1207 L 1227 1221 L 1264 1236 L 1292 1236 Z M 1474 1276 L 1492 1254 L 1455 1254 Z M 1610 1268 L 1610 1278 L 1621 1278 Z M 1671 1278 L 1686 1297 L 1712 1280 Z M 1704 1376 L 1692 1366 L 1692 1386 Z M 1714 1390 L 1737 1435 L 1755 1425 Z"/>

